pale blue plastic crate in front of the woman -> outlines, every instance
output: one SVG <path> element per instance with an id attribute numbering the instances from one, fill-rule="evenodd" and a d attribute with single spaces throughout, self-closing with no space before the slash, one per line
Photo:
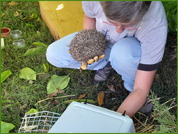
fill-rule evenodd
<path id="1" fill-rule="evenodd" d="M 135 128 L 127 115 L 72 102 L 48 133 L 135 133 Z"/>

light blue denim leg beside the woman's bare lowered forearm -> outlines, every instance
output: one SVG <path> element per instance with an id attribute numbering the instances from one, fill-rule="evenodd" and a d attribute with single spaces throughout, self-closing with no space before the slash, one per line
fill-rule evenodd
<path id="1" fill-rule="evenodd" d="M 124 87 L 130 92 L 133 90 L 140 57 L 140 42 L 134 37 L 119 40 L 111 49 L 109 61 L 114 70 L 122 76 Z"/>

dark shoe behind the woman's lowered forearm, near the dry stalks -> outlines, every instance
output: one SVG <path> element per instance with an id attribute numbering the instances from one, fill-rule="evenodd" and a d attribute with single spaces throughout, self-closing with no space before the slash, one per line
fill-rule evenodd
<path id="1" fill-rule="evenodd" d="M 149 102 L 149 99 L 146 99 L 145 104 L 138 110 L 138 112 L 143 113 L 149 116 L 153 111 L 153 103 Z"/>

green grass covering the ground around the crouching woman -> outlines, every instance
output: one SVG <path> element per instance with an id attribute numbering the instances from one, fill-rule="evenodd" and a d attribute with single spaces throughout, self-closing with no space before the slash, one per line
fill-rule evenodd
<path id="1" fill-rule="evenodd" d="M 1 17 L 1 27 L 8 27 L 11 30 L 21 30 L 21 38 L 26 41 L 25 47 L 17 48 L 12 45 L 12 37 L 7 37 L 4 38 L 5 47 L 1 49 L 1 72 L 6 70 L 11 70 L 12 72 L 12 75 L 1 84 L 1 100 L 11 100 L 13 102 L 1 103 L 1 120 L 15 125 L 15 128 L 10 132 L 18 132 L 21 117 L 24 117 L 25 113 L 31 108 L 36 108 L 39 111 L 47 110 L 62 113 L 68 105 L 68 103 L 64 103 L 65 101 L 77 99 L 80 95 L 85 93 L 88 93 L 88 99 L 97 101 L 98 93 L 104 90 L 105 100 L 102 107 L 116 110 L 127 96 L 127 92 L 122 86 L 121 77 L 114 72 L 113 76 L 103 83 L 103 85 L 94 86 L 92 79 L 95 71 L 89 70 L 82 72 L 80 72 L 80 70 L 74 70 L 70 75 L 70 83 L 64 90 L 65 94 L 75 95 L 75 97 L 62 99 L 56 99 L 54 97 L 53 99 L 39 103 L 39 105 L 35 105 L 38 101 L 48 98 L 46 87 L 52 75 L 65 76 L 71 73 L 73 69 L 59 69 L 49 65 L 49 72 L 44 73 L 43 63 L 47 63 L 45 53 L 26 57 L 23 56 L 28 48 L 31 48 L 32 43 L 42 42 L 49 45 L 54 39 L 43 20 L 41 20 L 41 22 L 38 22 L 36 19 L 23 20 L 24 17 L 30 17 L 34 13 L 41 18 L 38 2 L 20 1 L 16 3 L 17 5 L 10 6 L 9 2 L 1 2 L 1 15 L 5 13 L 5 15 Z M 14 12 L 18 10 L 23 10 L 23 14 L 14 16 Z M 26 23 L 33 26 L 29 27 Z M 38 36 L 37 31 L 40 33 Z M 161 97 L 159 100 L 160 103 L 164 103 L 171 98 L 177 98 L 176 46 L 176 35 L 169 33 L 164 58 L 157 71 L 159 78 L 154 80 L 151 87 L 154 94 L 156 94 L 157 97 Z M 37 75 L 37 80 L 33 81 L 33 83 L 20 79 L 20 69 L 25 67 L 29 67 L 37 73 L 42 74 Z M 119 95 L 109 92 L 107 87 L 109 84 L 114 85 Z M 57 96 L 59 97 L 65 94 L 58 94 Z M 176 108 L 172 108 L 170 112 L 177 117 Z M 147 118 L 148 117 L 137 113 L 135 118 L 133 118 L 135 126 L 137 127 L 137 124 L 140 124 L 139 121 L 141 123 L 146 122 Z M 152 120 L 153 118 L 149 118 L 146 124 L 150 125 Z M 136 130 L 140 131 L 140 128 L 137 127 Z"/>

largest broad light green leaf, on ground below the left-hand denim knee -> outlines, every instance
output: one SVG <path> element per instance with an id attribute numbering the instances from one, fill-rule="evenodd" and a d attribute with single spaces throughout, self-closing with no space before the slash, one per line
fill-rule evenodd
<path id="1" fill-rule="evenodd" d="M 66 88 L 69 81 L 70 77 L 68 76 L 53 75 L 47 85 L 48 94 L 54 93 L 56 90 Z"/>

